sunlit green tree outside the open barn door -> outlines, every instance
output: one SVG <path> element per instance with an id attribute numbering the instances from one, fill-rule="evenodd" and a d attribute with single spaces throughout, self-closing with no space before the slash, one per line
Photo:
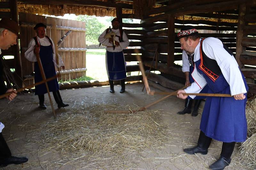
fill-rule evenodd
<path id="1" fill-rule="evenodd" d="M 106 29 L 96 16 L 79 15 L 78 21 L 84 21 L 86 25 L 86 44 L 98 44 L 98 37 Z"/>

